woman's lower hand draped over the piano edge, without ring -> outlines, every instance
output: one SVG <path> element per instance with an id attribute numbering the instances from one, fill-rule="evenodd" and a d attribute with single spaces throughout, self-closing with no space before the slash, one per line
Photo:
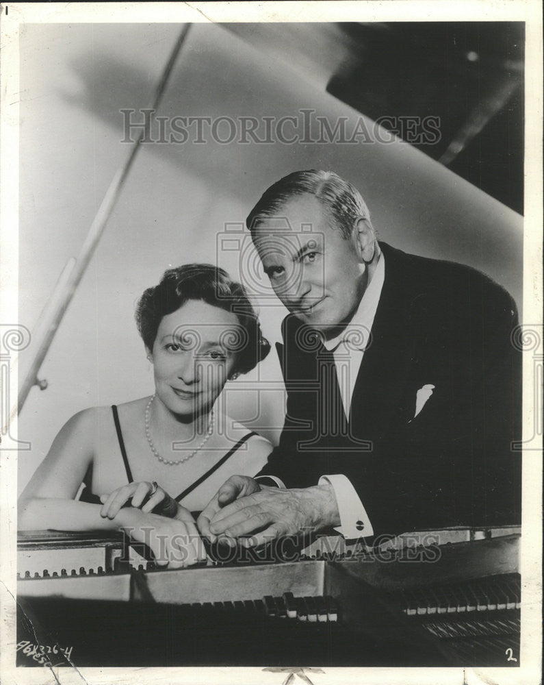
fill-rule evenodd
<path id="1" fill-rule="evenodd" d="M 119 512 L 116 520 L 135 542 L 151 549 L 157 566 L 184 569 L 207 558 L 191 516 L 179 521 L 127 507 Z"/>

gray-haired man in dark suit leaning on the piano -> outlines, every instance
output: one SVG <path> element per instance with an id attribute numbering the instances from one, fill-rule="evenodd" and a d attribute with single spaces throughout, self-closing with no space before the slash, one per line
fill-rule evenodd
<path id="1" fill-rule="evenodd" d="M 289 316 L 287 415 L 256 479 L 201 514 L 214 539 L 261 545 L 334 527 L 348 538 L 520 518 L 521 364 L 513 299 L 461 264 L 376 239 L 359 192 L 298 171 L 247 225 Z"/>

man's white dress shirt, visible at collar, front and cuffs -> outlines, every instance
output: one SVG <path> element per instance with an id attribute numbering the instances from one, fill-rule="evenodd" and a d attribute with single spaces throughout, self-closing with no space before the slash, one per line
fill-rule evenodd
<path id="1" fill-rule="evenodd" d="M 351 399 L 353 389 L 361 368 L 361 362 L 365 349 L 369 343 L 374 316 L 380 301 L 380 295 L 385 279 L 385 259 L 383 253 L 376 264 L 376 271 L 367 285 L 357 311 L 344 331 L 332 340 L 326 340 L 324 346 L 329 351 L 333 350 L 335 366 L 338 376 L 338 384 L 344 404 L 346 417 L 350 416 Z M 263 476 L 264 477 L 264 476 Z M 276 484 L 285 488 L 281 479 L 275 476 L 265 476 L 271 478 Z M 357 491 L 352 486 L 350 480 L 342 474 L 322 475 L 319 485 L 328 483 L 332 486 L 338 512 L 340 525 L 335 528 L 337 532 L 345 538 L 361 538 L 374 535 L 372 523 L 367 516 L 367 512 L 357 495 Z"/>

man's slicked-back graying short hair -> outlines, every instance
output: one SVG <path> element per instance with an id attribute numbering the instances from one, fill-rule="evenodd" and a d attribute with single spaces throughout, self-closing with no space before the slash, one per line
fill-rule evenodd
<path id="1" fill-rule="evenodd" d="M 294 171 L 267 188 L 251 210 L 246 225 L 255 238 L 255 229 L 263 221 L 282 216 L 281 208 L 292 197 L 313 195 L 326 206 L 344 238 L 348 238 L 359 219 L 370 219 L 361 193 L 334 171 Z"/>

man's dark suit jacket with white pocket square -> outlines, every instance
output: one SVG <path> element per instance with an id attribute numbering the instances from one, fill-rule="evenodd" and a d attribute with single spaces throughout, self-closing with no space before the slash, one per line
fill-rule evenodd
<path id="1" fill-rule="evenodd" d="M 259 475 L 301 488 L 343 473 L 375 535 L 518 523 L 521 464 L 510 447 L 521 436 L 515 303 L 475 269 L 380 245 L 385 282 L 349 423 L 331 353 L 287 316 L 278 345 L 287 416 Z M 417 390 L 427 384 L 435 390 L 414 418 Z"/>

